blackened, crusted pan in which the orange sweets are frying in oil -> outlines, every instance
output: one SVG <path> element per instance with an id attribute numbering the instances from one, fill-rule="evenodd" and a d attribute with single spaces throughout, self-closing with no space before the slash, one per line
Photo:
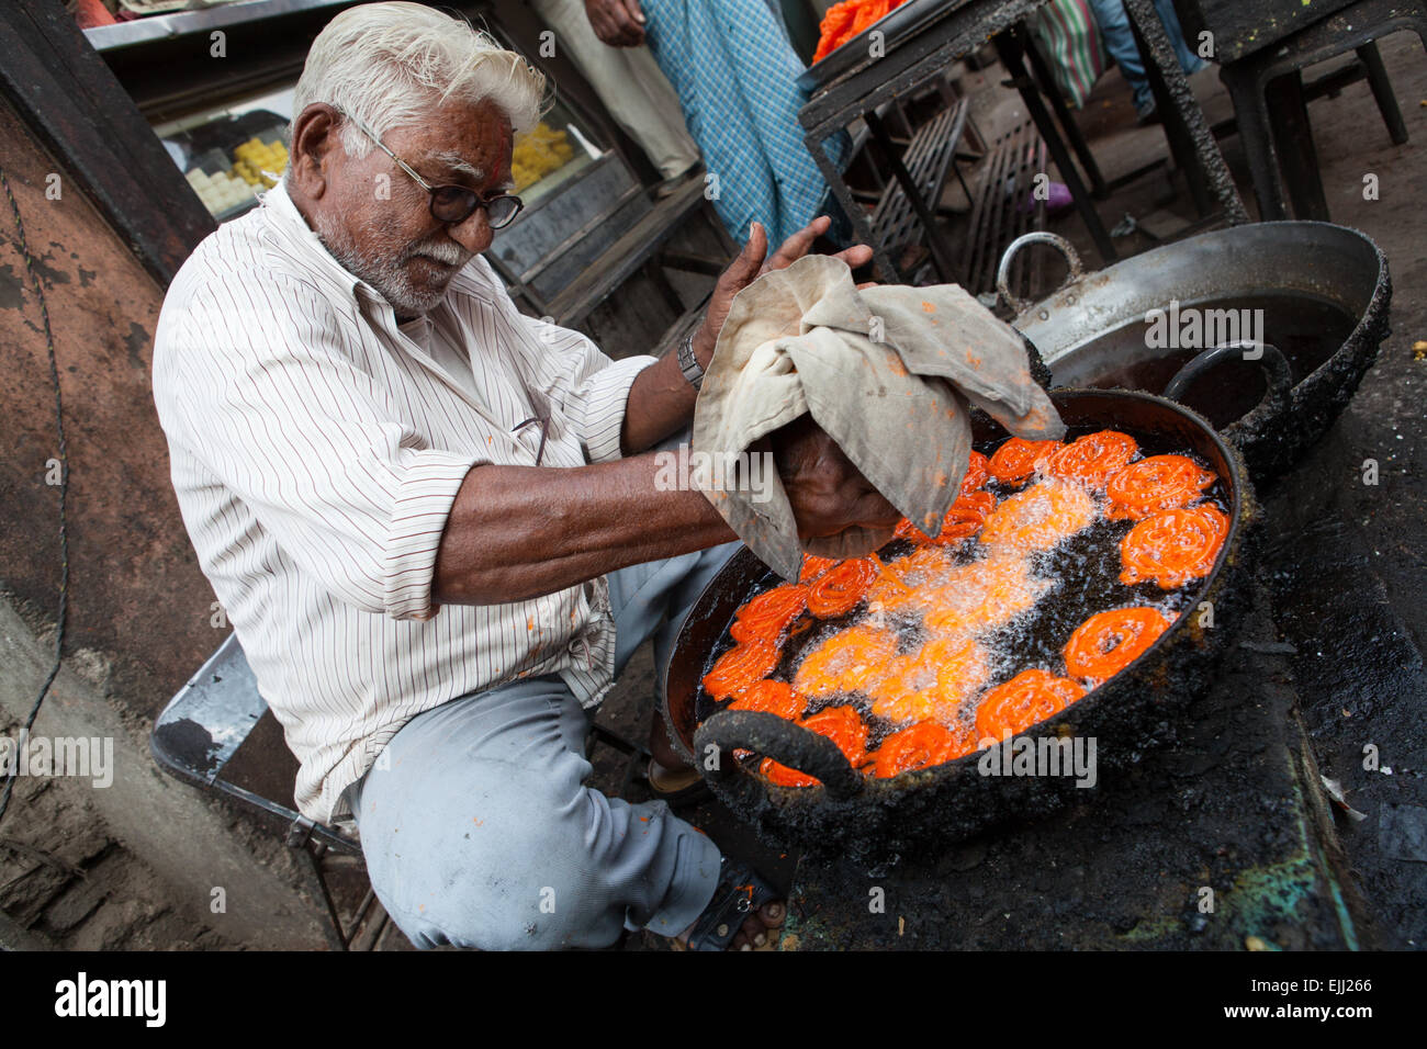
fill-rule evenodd
<path id="1" fill-rule="evenodd" d="M 1143 392 L 1056 390 L 1052 400 L 1072 435 L 1123 430 L 1142 442 L 1187 448 L 1214 470 L 1226 487 L 1229 537 L 1187 611 L 1139 659 L 1076 704 L 1025 735 L 1095 736 L 1100 779 L 1139 759 L 1173 735 L 1180 708 L 1209 682 L 1223 638 L 1233 634 L 1234 609 L 1247 591 L 1246 538 L 1257 504 L 1239 454 L 1193 411 Z M 1003 431 L 989 418 L 975 438 Z M 838 852 L 879 862 L 928 842 L 970 836 L 1013 816 L 1047 812 L 1069 796 L 1093 795 L 1070 776 L 985 776 L 977 755 L 936 768 L 869 779 L 852 769 L 826 738 L 771 714 L 721 711 L 698 724 L 701 678 L 733 612 L 769 584 L 769 569 L 748 548 L 735 554 L 709 582 L 685 621 L 665 675 L 664 716 L 674 746 L 704 771 L 714 792 L 769 842 Z M 1213 628 L 1197 615 L 1213 602 Z M 771 756 L 822 781 L 821 786 L 773 786 L 755 762 L 733 749 Z M 716 761 L 712 756 L 716 755 Z"/>

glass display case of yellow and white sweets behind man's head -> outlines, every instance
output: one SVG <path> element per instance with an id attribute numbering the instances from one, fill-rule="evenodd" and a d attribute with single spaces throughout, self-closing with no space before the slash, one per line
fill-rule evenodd
<path id="1" fill-rule="evenodd" d="M 291 87 L 307 47 L 348 0 L 250 0 L 86 30 L 130 91 L 187 184 L 217 221 L 255 204 L 287 166 Z M 525 208 L 502 228 L 487 258 L 521 308 L 578 313 L 577 278 L 646 217 L 654 204 L 612 134 L 564 90 L 545 63 L 507 31 L 521 11 L 458 3 L 505 47 L 525 54 L 555 86 L 557 100 L 514 144 L 512 177 Z M 515 24 L 512 21 L 511 24 Z M 208 54 L 225 33 L 227 57 Z M 534 39 L 534 37 L 532 37 Z"/>

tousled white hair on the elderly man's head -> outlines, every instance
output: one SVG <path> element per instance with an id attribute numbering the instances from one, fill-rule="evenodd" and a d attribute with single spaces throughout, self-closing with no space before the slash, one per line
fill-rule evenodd
<path id="1" fill-rule="evenodd" d="M 432 7 L 361 4 L 317 34 L 293 93 L 293 113 L 324 101 L 385 137 L 430 120 L 431 110 L 452 97 L 491 101 L 519 134 L 544 113 L 545 77 L 489 33 Z M 372 144 L 348 123 L 342 148 L 360 160 Z"/>

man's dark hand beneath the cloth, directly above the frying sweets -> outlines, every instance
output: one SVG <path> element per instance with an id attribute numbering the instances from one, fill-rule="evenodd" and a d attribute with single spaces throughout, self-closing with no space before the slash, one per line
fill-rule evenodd
<path id="1" fill-rule="evenodd" d="M 902 514 L 882 498 L 812 415 L 799 417 L 768 440 L 801 539 L 822 539 L 849 528 L 885 532 L 883 542 L 892 538 Z"/>

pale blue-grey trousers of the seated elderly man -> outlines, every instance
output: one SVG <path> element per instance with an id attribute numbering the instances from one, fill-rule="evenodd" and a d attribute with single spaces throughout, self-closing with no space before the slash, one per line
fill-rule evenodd
<path id="1" fill-rule="evenodd" d="M 736 544 L 609 574 L 615 674 L 679 625 Z M 661 685 L 662 686 L 662 685 Z M 584 785 L 589 715 L 555 675 L 452 699 L 407 722 L 347 798 L 372 888 L 418 948 L 599 948 L 672 936 L 708 905 L 719 851 L 662 801 Z"/>

